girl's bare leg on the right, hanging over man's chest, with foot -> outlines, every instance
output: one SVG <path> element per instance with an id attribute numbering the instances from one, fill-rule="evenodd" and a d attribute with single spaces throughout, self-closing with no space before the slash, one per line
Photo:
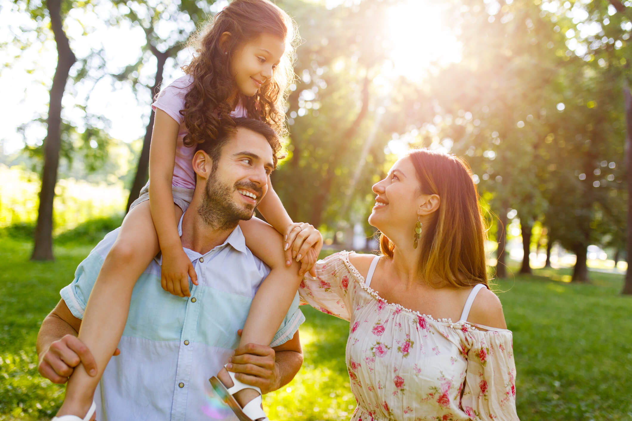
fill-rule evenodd
<path id="1" fill-rule="evenodd" d="M 270 345 L 302 280 L 302 276 L 298 276 L 300 265 L 296 262 L 289 267 L 285 265 L 283 238 L 267 223 L 252 218 L 241 221 L 240 227 L 246 238 L 246 246 L 271 268 L 250 305 L 240 347 L 248 343 Z M 217 377 L 227 388 L 233 386 L 233 381 L 225 368 L 222 368 Z M 254 389 L 243 389 L 234 394 L 234 398 L 242 407 L 257 396 L 258 393 Z"/>

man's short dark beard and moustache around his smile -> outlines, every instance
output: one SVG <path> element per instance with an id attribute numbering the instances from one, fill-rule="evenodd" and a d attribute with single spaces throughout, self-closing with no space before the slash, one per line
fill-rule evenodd
<path id="1" fill-rule="evenodd" d="M 247 205 L 239 206 L 233 201 L 233 193 L 240 187 L 250 189 L 260 198 L 263 194 L 261 187 L 252 182 L 237 182 L 233 188 L 222 184 L 216 174 L 212 174 L 204 189 L 202 204 L 198 207 L 198 215 L 204 223 L 216 230 L 233 229 L 241 220 L 249 220 L 255 211 Z"/>

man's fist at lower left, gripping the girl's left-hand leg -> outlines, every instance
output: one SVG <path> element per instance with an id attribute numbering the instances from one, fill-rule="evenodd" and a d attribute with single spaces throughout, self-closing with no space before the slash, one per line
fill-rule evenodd
<path id="1" fill-rule="evenodd" d="M 119 353 L 116 348 L 114 355 Z M 37 370 L 53 383 L 64 384 L 79 364 L 83 364 L 90 376 L 97 375 L 97 363 L 88 347 L 76 336 L 66 335 L 51 343 L 48 350 L 40 355 Z"/>

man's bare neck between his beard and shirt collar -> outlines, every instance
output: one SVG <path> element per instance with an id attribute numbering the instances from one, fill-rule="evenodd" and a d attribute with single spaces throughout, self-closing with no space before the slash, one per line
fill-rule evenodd
<path id="1" fill-rule="evenodd" d="M 193 203 L 191 203 L 193 205 Z M 202 216 L 198 215 L 193 206 L 185 212 L 182 218 L 182 246 L 200 254 L 205 254 L 214 247 L 224 244 L 234 227 L 210 227 Z"/>

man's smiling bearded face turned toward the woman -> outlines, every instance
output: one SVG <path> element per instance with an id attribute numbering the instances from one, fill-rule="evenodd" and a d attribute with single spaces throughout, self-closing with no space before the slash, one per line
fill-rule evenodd
<path id="1" fill-rule="evenodd" d="M 265 137 L 238 127 L 213 163 L 198 213 L 215 228 L 234 228 L 249 220 L 267 192 L 272 170 L 272 148 Z"/>

